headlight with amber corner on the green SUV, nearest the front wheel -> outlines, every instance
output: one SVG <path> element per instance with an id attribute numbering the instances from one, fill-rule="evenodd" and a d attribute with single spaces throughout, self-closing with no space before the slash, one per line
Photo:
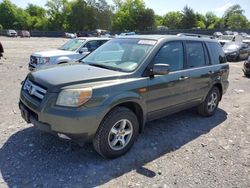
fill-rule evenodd
<path id="1" fill-rule="evenodd" d="M 79 107 L 86 103 L 92 96 L 92 88 L 65 89 L 57 97 L 56 105 Z"/>

